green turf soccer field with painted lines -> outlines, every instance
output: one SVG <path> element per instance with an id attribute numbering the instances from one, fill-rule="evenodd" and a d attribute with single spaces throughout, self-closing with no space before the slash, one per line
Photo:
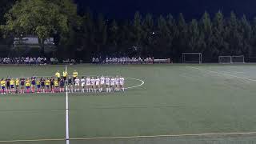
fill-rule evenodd
<path id="1" fill-rule="evenodd" d="M 130 88 L 69 94 L 71 144 L 256 142 L 254 64 L 67 67 L 78 76 L 122 75 Z M 0 77 L 51 76 L 64 69 L 0 66 Z M 0 95 L 0 143 L 64 144 L 65 138 L 65 93 Z"/>

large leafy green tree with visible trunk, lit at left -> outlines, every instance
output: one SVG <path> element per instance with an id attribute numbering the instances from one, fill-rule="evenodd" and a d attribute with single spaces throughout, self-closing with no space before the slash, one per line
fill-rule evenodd
<path id="1" fill-rule="evenodd" d="M 63 8 L 69 0 L 59 3 L 49 0 L 21 0 L 5 14 L 6 25 L 3 30 L 16 36 L 33 34 L 38 36 L 41 54 L 44 54 L 44 42 L 53 34 L 64 34 L 69 31 L 70 11 Z M 63 5 L 59 5 L 62 3 Z M 75 5 L 72 5 L 75 6 Z"/>

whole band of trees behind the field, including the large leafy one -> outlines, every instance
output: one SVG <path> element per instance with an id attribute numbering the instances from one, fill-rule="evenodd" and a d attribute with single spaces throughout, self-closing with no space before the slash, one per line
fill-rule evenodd
<path id="1" fill-rule="evenodd" d="M 31 7 L 34 2 L 38 6 Z M 71 0 L 58 2 L 21 0 L 14 3 L 6 10 L 5 17 L 0 18 L 2 39 L 34 34 L 42 44 L 45 38 L 54 37 L 55 57 L 86 61 L 92 57 L 141 56 L 180 62 L 183 52 L 202 53 L 204 58 L 256 54 L 256 18 L 248 20 L 246 15 L 240 18 L 230 12 L 224 16 L 218 11 L 210 17 L 205 12 L 202 18 L 186 21 L 183 14 L 177 18 L 171 14 L 156 18 L 136 12 L 134 19 L 115 20 L 93 14 L 89 9 L 77 14 Z M 22 10 L 26 13 L 22 14 Z"/>

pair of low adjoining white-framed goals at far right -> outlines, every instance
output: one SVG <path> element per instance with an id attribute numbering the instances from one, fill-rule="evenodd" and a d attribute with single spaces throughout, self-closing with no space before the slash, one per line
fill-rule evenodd
<path id="1" fill-rule="evenodd" d="M 229 63 L 245 63 L 245 57 L 243 55 L 238 56 L 219 56 L 218 62 L 222 64 Z"/>

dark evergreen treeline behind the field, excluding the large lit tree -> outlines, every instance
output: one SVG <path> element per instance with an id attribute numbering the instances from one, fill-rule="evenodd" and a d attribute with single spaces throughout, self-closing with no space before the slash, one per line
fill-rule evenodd
<path id="1" fill-rule="evenodd" d="M 6 0 L 9 4 L 1 7 L 1 23 L 11 2 Z M 70 26 L 64 42 L 59 42 L 58 34 L 53 35 L 57 47 L 54 57 L 90 61 L 92 57 L 141 56 L 180 62 L 182 52 L 200 52 L 203 58 L 213 59 L 219 55 L 256 55 L 256 18 L 238 18 L 234 12 L 224 16 L 218 11 L 213 17 L 205 12 L 202 18 L 190 21 L 182 14 L 174 18 L 171 14 L 155 17 L 139 12 L 134 19 L 114 20 L 89 9 L 80 16 L 81 25 Z M 1 38 L 1 56 L 10 55 L 12 42 L 13 38 Z"/>

